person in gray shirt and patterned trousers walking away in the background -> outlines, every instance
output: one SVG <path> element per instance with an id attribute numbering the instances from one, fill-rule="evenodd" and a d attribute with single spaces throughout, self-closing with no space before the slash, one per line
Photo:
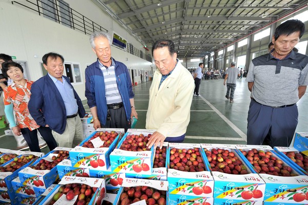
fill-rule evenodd
<path id="1" fill-rule="evenodd" d="M 225 72 L 225 79 L 223 85 L 226 85 L 227 82 L 227 94 L 226 99 L 230 99 L 230 102 L 233 102 L 234 91 L 236 88 L 236 79 L 240 76 L 240 71 L 235 67 L 236 62 L 230 63 L 231 67 Z"/>

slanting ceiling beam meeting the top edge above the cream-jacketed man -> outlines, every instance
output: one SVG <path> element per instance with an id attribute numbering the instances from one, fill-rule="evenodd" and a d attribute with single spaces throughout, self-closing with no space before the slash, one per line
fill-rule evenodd
<path id="1" fill-rule="evenodd" d="M 119 16 L 119 18 L 127 18 L 127 17 L 130 17 L 130 16 L 134 16 L 136 14 L 141 14 L 141 13 L 144 13 L 144 12 L 155 10 L 157 8 L 161 8 L 161 7 L 165 7 L 165 6 L 169 6 L 169 5 L 177 4 L 177 3 L 181 3 L 181 2 L 184 2 L 184 0 L 162 1 L 161 2 L 162 3 L 161 6 L 157 6 L 157 3 L 156 4 L 151 4 L 151 5 L 148 5 L 148 6 L 144 6 L 144 7 L 140 8 L 140 9 L 136 9 L 135 11 L 128 11 L 128 12 L 120 13 L 120 14 L 118 14 L 118 16 Z"/>

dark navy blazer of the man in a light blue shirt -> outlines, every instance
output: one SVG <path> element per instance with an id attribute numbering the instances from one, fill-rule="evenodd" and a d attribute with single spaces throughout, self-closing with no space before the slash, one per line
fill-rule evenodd
<path id="1" fill-rule="evenodd" d="M 66 76 L 63 77 L 73 88 L 69 78 Z M 79 116 L 83 118 L 86 113 L 85 109 L 74 88 L 73 91 L 78 104 Z M 32 84 L 28 108 L 31 116 L 38 125 L 46 126 L 48 124 L 53 131 L 59 134 L 64 133 L 66 126 L 64 101 L 48 74 Z"/>

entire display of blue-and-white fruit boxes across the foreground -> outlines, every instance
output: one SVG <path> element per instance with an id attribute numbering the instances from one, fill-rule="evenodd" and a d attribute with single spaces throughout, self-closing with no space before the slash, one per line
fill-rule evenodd
<path id="1" fill-rule="evenodd" d="M 4 167 L 22 156 L 43 156 L 14 172 L 0 172 L 0 203 L 45 205 L 59 198 L 57 204 L 308 204 L 308 143 L 303 134 L 297 134 L 294 147 L 275 150 L 167 142 L 162 149 L 147 149 L 143 140 L 153 132 L 129 129 L 124 135 L 123 129 L 101 128 L 79 146 L 57 147 L 45 156 L 0 149 Z M 59 163 L 50 165 L 59 156 Z M 276 163 L 284 176 L 275 176 Z M 90 189 L 85 197 L 79 197 L 82 186 Z M 76 193 L 72 200 L 65 188 Z"/>

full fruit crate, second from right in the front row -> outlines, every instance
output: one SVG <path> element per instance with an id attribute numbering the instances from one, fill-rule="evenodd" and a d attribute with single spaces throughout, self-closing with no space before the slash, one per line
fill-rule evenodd
<path id="1" fill-rule="evenodd" d="M 302 197 L 301 195 L 303 193 L 306 193 L 306 191 L 308 190 L 308 176 L 305 176 L 295 167 L 291 168 L 291 165 L 287 163 L 287 160 L 282 157 L 279 157 L 272 148 L 266 150 L 264 148 L 258 148 L 256 146 L 250 147 L 250 145 L 246 145 L 245 148 L 242 148 L 241 146 L 241 148 L 239 148 L 237 152 L 246 162 L 246 164 L 250 164 L 251 167 L 254 167 L 254 169 L 259 173 L 259 176 L 265 181 L 266 186 L 263 199 L 265 202 L 281 202 L 294 204 L 298 202 L 308 203 L 308 200 L 299 201 Z M 249 157 L 252 155 L 254 156 L 253 158 L 256 157 L 254 161 L 257 161 L 257 163 L 252 162 L 254 163 L 254 165 L 251 164 L 251 162 L 249 162 L 248 159 L 245 157 Z M 257 160 L 257 157 L 259 157 L 259 160 Z M 265 158 L 269 158 L 269 160 Z M 265 163 L 265 161 L 268 162 Z M 262 164 L 266 164 L 267 166 L 262 166 Z M 263 169 L 263 167 L 268 167 L 268 169 Z M 280 171 L 281 175 L 284 176 L 276 176 L 278 174 L 278 172 L 276 171 L 269 172 L 272 171 L 272 169 L 277 170 L 276 167 L 279 168 L 278 171 Z M 260 169 L 262 169 L 262 171 L 260 171 Z M 273 175 L 273 173 L 276 175 Z M 298 196 L 300 199 L 297 198 Z"/>

